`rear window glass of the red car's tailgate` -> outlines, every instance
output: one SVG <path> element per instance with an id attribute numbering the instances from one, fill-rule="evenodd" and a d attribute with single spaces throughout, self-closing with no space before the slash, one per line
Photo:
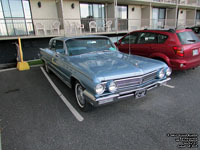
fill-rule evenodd
<path id="1" fill-rule="evenodd" d="M 193 43 L 200 42 L 200 39 L 196 36 L 196 34 L 191 31 L 180 32 L 180 33 L 177 33 L 177 35 L 181 44 L 193 44 Z"/>

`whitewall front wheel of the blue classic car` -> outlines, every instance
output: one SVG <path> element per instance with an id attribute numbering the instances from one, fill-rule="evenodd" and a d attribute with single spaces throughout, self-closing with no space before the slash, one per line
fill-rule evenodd
<path id="1" fill-rule="evenodd" d="M 86 112 L 86 111 L 89 111 L 92 109 L 92 105 L 85 100 L 83 91 L 84 91 L 84 89 L 83 89 L 82 85 L 79 82 L 76 82 L 75 83 L 76 102 L 77 102 L 79 108 L 82 111 Z"/>

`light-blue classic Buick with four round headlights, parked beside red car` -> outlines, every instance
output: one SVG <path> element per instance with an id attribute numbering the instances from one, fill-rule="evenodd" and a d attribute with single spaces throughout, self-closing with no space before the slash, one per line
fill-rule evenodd
<path id="1" fill-rule="evenodd" d="M 129 96 L 143 97 L 170 80 L 165 63 L 121 53 L 104 36 L 53 38 L 40 53 L 46 71 L 74 88 L 83 111 Z"/>

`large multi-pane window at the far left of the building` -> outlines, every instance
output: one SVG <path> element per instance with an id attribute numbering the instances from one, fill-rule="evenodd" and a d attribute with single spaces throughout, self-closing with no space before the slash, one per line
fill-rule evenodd
<path id="1" fill-rule="evenodd" d="M 33 34 L 28 0 L 0 0 L 0 36 Z"/>

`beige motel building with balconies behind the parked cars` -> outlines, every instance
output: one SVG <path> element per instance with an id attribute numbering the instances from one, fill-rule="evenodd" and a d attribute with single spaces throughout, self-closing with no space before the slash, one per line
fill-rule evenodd
<path id="1" fill-rule="evenodd" d="M 117 36 L 198 24 L 200 0 L 0 0 L 0 64 L 14 61 L 18 37 L 30 60 L 51 37 Z"/>

